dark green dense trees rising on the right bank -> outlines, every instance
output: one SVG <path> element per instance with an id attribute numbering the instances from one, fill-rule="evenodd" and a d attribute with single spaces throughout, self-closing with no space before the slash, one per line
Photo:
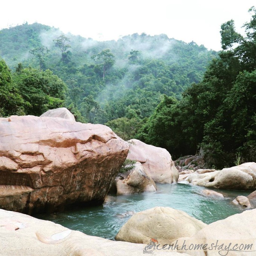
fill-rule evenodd
<path id="1" fill-rule="evenodd" d="M 209 166 L 256 161 L 256 9 L 245 23 L 246 35 L 233 20 L 222 24 L 222 51 L 204 78 L 183 93 L 181 101 L 165 96 L 139 139 L 172 154 L 195 154 L 200 147 Z"/>

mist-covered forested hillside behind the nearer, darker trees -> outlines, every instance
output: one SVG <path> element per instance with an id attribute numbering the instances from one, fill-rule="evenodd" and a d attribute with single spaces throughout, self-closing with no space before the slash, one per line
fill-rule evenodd
<path id="1" fill-rule="evenodd" d="M 133 34 L 98 42 L 64 35 L 38 23 L 0 31 L 0 56 L 14 77 L 18 63 L 22 64 L 21 73 L 51 70 L 67 85 L 63 104 L 78 120 L 108 122 L 112 128 L 118 127 L 125 139 L 134 137 L 164 95 L 180 99 L 192 82 L 200 82 L 216 55 L 194 42 L 184 43 L 163 34 Z"/>

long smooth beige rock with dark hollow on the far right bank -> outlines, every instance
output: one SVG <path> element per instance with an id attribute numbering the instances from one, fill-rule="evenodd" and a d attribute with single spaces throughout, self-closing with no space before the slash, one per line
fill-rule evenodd
<path id="1" fill-rule="evenodd" d="M 256 188 L 256 163 L 243 163 L 220 171 L 180 175 L 179 181 L 217 189 L 253 190 Z"/>

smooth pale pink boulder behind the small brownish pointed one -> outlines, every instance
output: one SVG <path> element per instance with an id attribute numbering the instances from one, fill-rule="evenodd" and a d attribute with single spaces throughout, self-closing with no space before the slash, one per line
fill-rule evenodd
<path id="1" fill-rule="evenodd" d="M 142 163 L 152 180 L 160 183 L 178 181 L 178 170 L 172 162 L 172 157 L 164 148 L 158 148 L 132 139 L 128 141 L 130 149 L 127 159 Z"/>

